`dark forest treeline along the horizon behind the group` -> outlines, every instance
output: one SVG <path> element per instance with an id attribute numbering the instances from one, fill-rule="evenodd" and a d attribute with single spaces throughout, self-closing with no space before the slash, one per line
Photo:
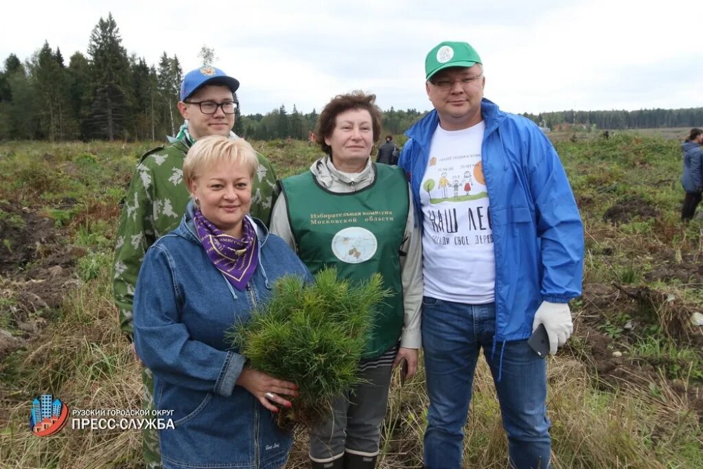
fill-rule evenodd
<path id="1" fill-rule="evenodd" d="M 207 53 L 209 51 L 209 53 Z M 202 60 L 212 59 L 203 48 Z M 182 123 L 176 103 L 183 69 L 166 52 L 157 65 L 127 53 L 112 14 L 100 18 L 89 37 L 87 54 L 76 51 L 66 60 L 60 49 L 44 41 L 24 62 L 10 54 L 0 71 L 0 140 L 163 140 Z M 246 103 L 243 103 L 246 108 Z M 234 131 L 256 140 L 307 139 L 318 117 L 285 105 L 266 114 L 240 115 Z M 384 133 L 401 134 L 425 112 L 386 110 Z M 598 129 L 695 127 L 703 108 L 636 111 L 562 111 L 523 114 L 554 129 L 586 124 Z"/>

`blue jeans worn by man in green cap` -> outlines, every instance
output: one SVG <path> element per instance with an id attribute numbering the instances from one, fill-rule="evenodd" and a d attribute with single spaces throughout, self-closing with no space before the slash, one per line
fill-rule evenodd
<path id="1" fill-rule="evenodd" d="M 547 366 L 527 340 L 499 343 L 496 305 L 462 304 L 423 298 L 423 348 L 430 410 L 424 461 L 427 469 L 459 469 L 479 350 L 496 385 L 503 428 L 508 434 L 510 467 L 550 467 L 547 418 Z M 501 364 L 501 354 L 503 354 Z M 501 368 L 502 369 L 499 369 Z M 501 380 L 498 380 L 498 374 Z"/>

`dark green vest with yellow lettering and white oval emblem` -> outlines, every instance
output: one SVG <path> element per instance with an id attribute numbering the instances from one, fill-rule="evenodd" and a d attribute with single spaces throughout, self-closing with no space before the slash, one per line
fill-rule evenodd
<path id="1" fill-rule="evenodd" d="M 364 359 L 380 356 L 398 342 L 403 328 L 400 246 L 408 219 L 408 184 L 401 169 L 373 165 L 370 186 L 333 193 L 311 172 L 281 181 L 298 255 L 315 274 L 337 267 L 340 278 L 365 281 L 379 272 L 392 297 L 376 311 Z"/>

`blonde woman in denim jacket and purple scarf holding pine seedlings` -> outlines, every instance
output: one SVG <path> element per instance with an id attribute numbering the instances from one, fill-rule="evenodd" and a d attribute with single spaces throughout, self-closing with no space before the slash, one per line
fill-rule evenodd
<path id="1" fill-rule="evenodd" d="M 278 468 L 291 435 L 274 404 L 294 383 L 247 366 L 225 331 L 266 302 L 285 274 L 311 280 L 283 240 L 247 213 L 256 153 L 243 139 L 198 140 L 183 163 L 193 200 L 180 226 L 149 248 L 134 295 L 134 340 L 155 375 L 164 468 Z"/>

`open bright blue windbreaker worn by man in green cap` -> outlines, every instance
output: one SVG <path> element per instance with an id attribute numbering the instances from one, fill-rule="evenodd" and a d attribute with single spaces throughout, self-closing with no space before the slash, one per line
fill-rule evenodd
<path id="1" fill-rule="evenodd" d="M 524 340 L 543 300 L 565 303 L 581 295 L 583 224 L 559 155 L 534 122 L 503 113 L 485 98 L 481 113 L 496 257 L 494 340 Z M 433 110 L 408 129 L 398 162 L 411 183 L 420 226 L 420 184 L 437 124 Z"/>

